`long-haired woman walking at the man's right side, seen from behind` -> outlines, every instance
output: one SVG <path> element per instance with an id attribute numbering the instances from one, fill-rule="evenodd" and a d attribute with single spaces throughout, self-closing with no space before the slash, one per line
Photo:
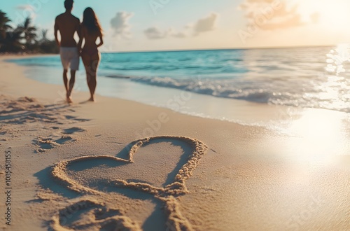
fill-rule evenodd
<path id="1" fill-rule="evenodd" d="M 102 38 L 102 28 L 99 24 L 99 20 L 94 13 L 92 8 L 86 8 L 83 14 L 83 22 L 81 23 L 81 34 L 78 43 L 78 49 L 80 50 L 81 59 L 86 70 L 87 85 L 90 90 L 89 101 L 94 102 L 94 90 L 96 90 L 96 73 L 99 66 L 99 61 L 101 60 L 101 54 L 97 49 L 102 44 L 104 40 Z M 97 38 L 99 38 L 99 43 L 96 44 Z M 83 49 L 83 39 L 85 44 Z"/>

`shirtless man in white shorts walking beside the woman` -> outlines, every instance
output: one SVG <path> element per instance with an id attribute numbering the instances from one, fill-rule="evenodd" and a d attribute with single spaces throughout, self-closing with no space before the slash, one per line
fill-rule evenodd
<path id="1" fill-rule="evenodd" d="M 76 81 L 76 71 L 79 69 L 79 52 L 74 34 L 77 32 L 80 37 L 80 20 L 71 14 L 73 9 L 73 0 L 64 1 L 66 12 L 57 16 L 55 20 L 55 38 L 60 49 L 61 61 L 63 65 L 63 81 L 66 87 L 66 101 L 71 103 L 71 92 Z M 61 41 L 58 40 L 58 31 L 61 34 Z M 71 79 L 69 80 L 67 72 L 71 69 Z"/>

